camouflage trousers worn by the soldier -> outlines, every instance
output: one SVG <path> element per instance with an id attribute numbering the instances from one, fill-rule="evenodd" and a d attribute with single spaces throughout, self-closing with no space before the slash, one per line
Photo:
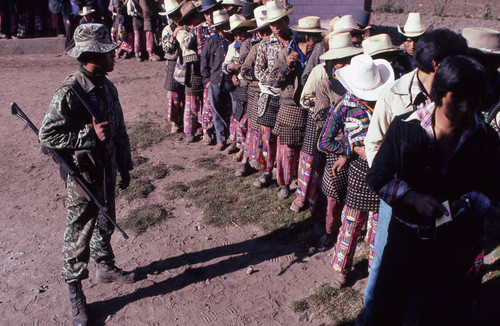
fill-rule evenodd
<path id="1" fill-rule="evenodd" d="M 115 185 L 116 178 L 108 182 L 108 213 L 115 218 Z M 92 187 L 97 198 L 104 198 L 103 186 Z M 66 178 L 66 229 L 64 231 L 63 269 L 66 282 L 77 282 L 88 278 L 87 265 L 89 258 L 97 263 L 114 262 L 111 248 L 111 235 L 114 226 L 103 215 L 97 206 L 82 195 L 72 177 Z M 104 201 L 101 201 L 104 203 Z"/>

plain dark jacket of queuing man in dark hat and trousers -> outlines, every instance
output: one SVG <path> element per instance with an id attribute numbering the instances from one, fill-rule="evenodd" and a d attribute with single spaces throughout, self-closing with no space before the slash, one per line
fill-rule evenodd
<path id="1" fill-rule="evenodd" d="M 218 34 L 207 40 L 201 52 L 201 76 L 203 85 L 210 82 L 212 85 L 220 86 L 224 78 L 222 63 L 226 57 L 229 42 L 221 38 Z"/>

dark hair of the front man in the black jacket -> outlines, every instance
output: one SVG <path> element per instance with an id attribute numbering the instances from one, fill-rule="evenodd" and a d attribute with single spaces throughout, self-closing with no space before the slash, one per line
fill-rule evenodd
<path id="1" fill-rule="evenodd" d="M 434 76 L 431 99 L 440 106 L 446 93 L 453 92 L 458 99 L 479 103 L 486 83 L 486 71 L 479 62 L 463 55 L 449 56 L 441 62 Z"/>

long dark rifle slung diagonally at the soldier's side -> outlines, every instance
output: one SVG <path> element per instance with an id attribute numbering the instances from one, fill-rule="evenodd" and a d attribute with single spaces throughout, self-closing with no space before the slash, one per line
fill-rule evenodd
<path id="1" fill-rule="evenodd" d="M 38 136 L 38 129 L 35 127 L 33 122 L 28 118 L 26 114 L 21 110 L 21 108 L 16 104 L 16 102 L 12 102 L 11 104 L 11 113 L 12 115 L 17 116 L 19 119 L 23 120 L 26 122 L 26 124 L 33 130 L 33 132 Z M 99 208 L 99 213 L 102 214 L 105 218 L 107 218 L 111 224 L 121 233 L 121 235 L 125 238 L 128 239 L 128 235 L 125 233 L 125 231 L 122 230 L 122 228 L 109 216 L 108 214 L 108 208 L 101 204 L 99 199 L 97 199 L 97 196 L 94 195 L 92 190 L 90 190 L 89 185 L 87 182 L 83 179 L 80 173 L 75 171 L 69 164 L 64 160 L 64 158 L 57 153 L 56 150 L 49 148 L 47 146 L 42 146 L 41 148 L 42 153 L 44 154 L 50 154 L 52 156 L 52 159 L 63 169 L 64 172 L 69 174 L 76 182 L 76 184 L 83 190 L 84 194 L 86 197 L 94 202 L 94 204 Z"/>

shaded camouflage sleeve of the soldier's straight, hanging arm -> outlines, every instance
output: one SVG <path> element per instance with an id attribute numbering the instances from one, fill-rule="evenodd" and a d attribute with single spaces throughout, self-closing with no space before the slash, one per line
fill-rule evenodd
<path id="1" fill-rule="evenodd" d="M 113 86 L 114 88 L 114 86 Z M 134 168 L 132 164 L 132 154 L 130 149 L 130 139 L 127 134 L 127 127 L 125 126 L 125 119 L 123 117 L 123 110 L 118 100 L 118 93 L 116 88 L 114 88 L 114 92 L 116 92 L 116 133 L 113 137 L 113 143 L 116 148 L 116 165 L 118 165 L 118 171 L 130 171 Z"/>

